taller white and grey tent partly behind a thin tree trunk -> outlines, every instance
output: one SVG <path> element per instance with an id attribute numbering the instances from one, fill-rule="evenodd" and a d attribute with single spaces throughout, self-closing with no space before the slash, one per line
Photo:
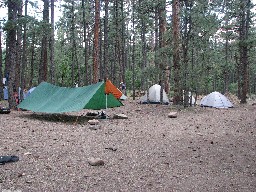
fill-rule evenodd
<path id="1" fill-rule="evenodd" d="M 160 103 L 161 86 L 155 84 L 148 89 L 148 93 L 140 98 L 140 103 Z M 163 103 L 169 104 L 168 96 L 163 89 Z"/>

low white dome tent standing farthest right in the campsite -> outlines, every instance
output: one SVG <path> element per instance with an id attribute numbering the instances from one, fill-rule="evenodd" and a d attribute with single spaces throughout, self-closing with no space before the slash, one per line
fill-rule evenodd
<path id="1" fill-rule="evenodd" d="M 205 96 L 200 105 L 202 107 L 214 107 L 214 108 L 230 108 L 233 107 L 233 104 L 228 100 L 227 97 L 221 93 L 215 91 Z"/>

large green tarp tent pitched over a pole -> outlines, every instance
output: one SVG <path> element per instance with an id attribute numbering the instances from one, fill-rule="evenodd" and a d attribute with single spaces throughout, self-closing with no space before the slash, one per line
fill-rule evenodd
<path id="1" fill-rule="evenodd" d="M 18 108 L 43 113 L 64 113 L 122 105 L 111 93 L 105 94 L 105 82 L 76 88 L 42 82 L 18 105 Z"/>

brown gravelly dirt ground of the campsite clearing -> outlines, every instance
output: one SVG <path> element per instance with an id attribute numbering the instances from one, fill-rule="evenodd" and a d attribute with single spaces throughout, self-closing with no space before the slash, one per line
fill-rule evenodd
<path id="1" fill-rule="evenodd" d="M 97 130 L 88 110 L 0 114 L 0 155 L 19 157 L 0 165 L 0 192 L 256 191 L 256 105 L 123 103 L 106 110 Z M 91 166 L 92 157 L 104 165 Z"/>

